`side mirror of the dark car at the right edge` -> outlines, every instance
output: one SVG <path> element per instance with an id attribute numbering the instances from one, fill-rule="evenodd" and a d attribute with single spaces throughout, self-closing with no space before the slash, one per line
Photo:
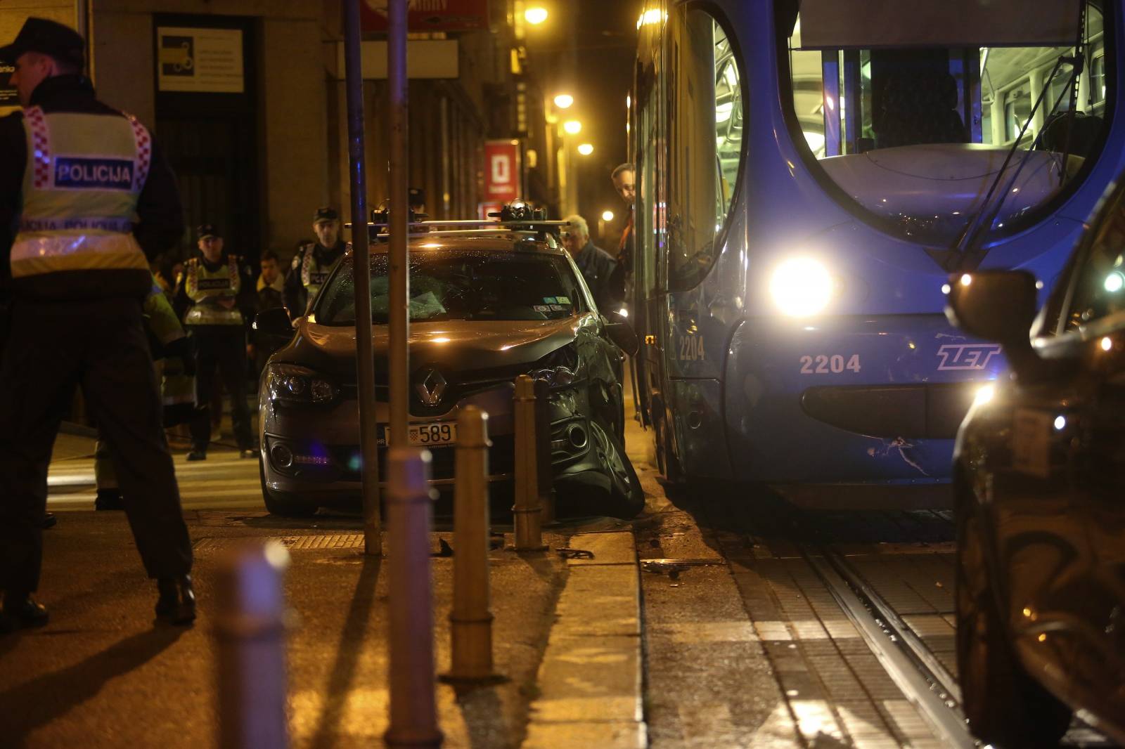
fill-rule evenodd
<path id="1" fill-rule="evenodd" d="M 1035 377 L 1042 360 L 1030 343 L 1038 294 L 1027 271 L 974 271 L 950 277 L 945 316 L 969 335 L 1004 346 L 1020 379 Z"/>

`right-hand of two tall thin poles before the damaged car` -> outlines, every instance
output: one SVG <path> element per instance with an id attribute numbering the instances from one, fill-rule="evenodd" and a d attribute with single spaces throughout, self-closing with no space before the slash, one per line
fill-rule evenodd
<path id="1" fill-rule="evenodd" d="M 406 446 L 410 419 L 410 271 L 407 197 L 406 0 L 387 3 L 387 87 L 390 90 L 390 310 L 387 361 L 390 370 L 390 444 Z"/>

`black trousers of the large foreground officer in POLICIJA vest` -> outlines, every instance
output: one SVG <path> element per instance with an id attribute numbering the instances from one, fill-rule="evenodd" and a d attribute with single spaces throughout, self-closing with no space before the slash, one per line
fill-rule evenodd
<path id="1" fill-rule="evenodd" d="M 112 451 L 145 570 L 188 574 L 191 542 L 141 301 L 18 299 L 0 363 L 0 587 L 38 587 L 47 466 L 76 387 Z"/>

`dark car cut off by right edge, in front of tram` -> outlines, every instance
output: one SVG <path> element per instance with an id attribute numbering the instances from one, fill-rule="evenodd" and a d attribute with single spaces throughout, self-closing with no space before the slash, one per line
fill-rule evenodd
<path id="1" fill-rule="evenodd" d="M 1125 182 L 1038 316 L 1025 272 L 950 287 L 951 321 L 1011 366 L 978 395 L 954 458 L 970 729 L 1055 746 L 1080 710 L 1125 743 Z"/>

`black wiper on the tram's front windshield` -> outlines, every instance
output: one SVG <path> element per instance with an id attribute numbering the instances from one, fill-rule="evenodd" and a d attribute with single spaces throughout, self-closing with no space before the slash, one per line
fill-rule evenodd
<path id="1" fill-rule="evenodd" d="M 1086 3 L 1080 4 L 1079 9 L 1079 21 L 1078 21 L 1078 38 L 1074 43 L 1074 54 L 1072 55 L 1060 55 L 1055 61 L 1054 66 L 1051 69 L 1051 74 L 1047 75 L 1043 81 L 1043 87 L 1040 90 L 1038 96 L 1035 98 L 1035 103 L 1032 106 L 1032 110 L 1027 114 L 1027 118 L 1024 120 L 1024 126 L 1019 129 L 1019 134 L 1016 136 L 1008 148 L 1008 153 L 1005 155 L 1004 163 L 1000 164 L 1000 169 L 997 171 L 996 179 L 992 180 L 991 186 L 989 186 L 988 192 L 984 195 L 984 200 L 981 202 L 981 207 L 975 214 L 969 219 L 965 225 L 964 231 L 957 237 L 956 242 L 953 243 L 947 250 L 936 250 L 930 251 L 930 256 L 934 258 L 942 267 L 952 272 L 963 272 L 975 270 L 984 256 L 988 254 L 988 250 L 983 247 L 986 232 L 991 228 L 992 223 L 996 220 L 997 215 L 1004 207 L 1004 202 L 1010 195 L 1012 186 L 1016 180 L 1019 179 L 1020 172 L 1027 164 L 1027 160 L 1030 157 L 1035 147 L 1040 144 L 1043 138 L 1043 134 L 1046 128 L 1043 128 L 1036 134 L 1035 139 L 1030 143 L 1027 150 L 1019 159 L 1019 163 L 1016 165 L 1015 171 L 1011 177 L 1007 180 L 1004 190 L 999 192 L 999 198 L 992 204 L 993 196 L 997 195 L 997 187 L 1000 182 L 1005 180 L 1005 174 L 1008 171 L 1008 164 L 1011 162 L 1011 157 L 1019 150 L 1019 144 L 1023 141 L 1024 134 L 1030 126 L 1032 120 L 1035 117 L 1035 112 L 1043 105 L 1043 100 L 1051 88 L 1051 83 L 1054 81 L 1055 75 L 1059 74 L 1059 70 L 1069 64 L 1071 66 L 1070 75 L 1066 80 L 1066 85 L 1062 88 L 1059 96 L 1055 98 L 1054 103 L 1051 109 L 1044 116 L 1044 119 L 1048 119 L 1059 109 L 1059 105 L 1062 103 L 1063 97 L 1070 98 L 1070 109 L 1066 112 L 1069 119 L 1066 126 L 1066 145 L 1063 150 L 1062 155 L 1062 173 L 1061 181 L 1065 182 L 1068 179 L 1066 162 L 1070 155 L 1070 134 L 1073 132 L 1073 119 L 1074 112 L 1077 110 L 1077 81 L 1078 76 L 1082 74 L 1086 57 L 1082 54 L 1083 40 L 1084 40 L 1084 29 L 1086 29 Z"/>

